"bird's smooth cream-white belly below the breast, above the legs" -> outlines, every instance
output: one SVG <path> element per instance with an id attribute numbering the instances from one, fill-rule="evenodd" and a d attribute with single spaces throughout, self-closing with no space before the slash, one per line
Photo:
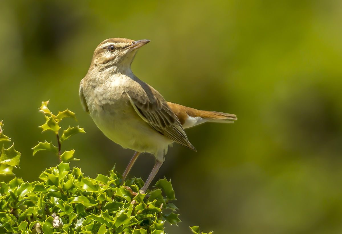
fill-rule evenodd
<path id="1" fill-rule="evenodd" d="M 96 108 L 90 113 L 96 126 L 112 141 L 124 148 L 153 153 L 162 157 L 173 141 L 155 131 L 127 100 Z"/>

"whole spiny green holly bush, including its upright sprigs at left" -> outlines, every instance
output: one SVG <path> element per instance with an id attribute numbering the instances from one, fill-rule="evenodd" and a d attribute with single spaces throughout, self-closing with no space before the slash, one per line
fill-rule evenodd
<path id="1" fill-rule="evenodd" d="M 68 161 L 77 160 L 75 150 L 62 153 L 62 144 L 84 130 L 77 126 L 61 131 L 60 121 L 65 117 L 77 121 L 75 114 L 66 110 L 54 115 L 48 103 L 43 102 L 40 107 L 46 120 L 40 127 L 43 132 L 56 134 L 58 146 L 39 142 L 33 154 L 51 151 L 61 163 L 42 172 L 38 181 L 25 182 L 15 177 L 7 183 L 0 182 L 0 233 L 161 234 L 165 233 L 165 222 L 180 221 L 172 202 L 174 190 L 166 178 L 159 179 L 152 190 L 141 194 L 139 188 L 144 185 L 141 178 L 122 181 L 122 175 L 114 168 L 108 175 L 98 174 L 95 179 L 84 176 L 78 167 L 70 169 Z M 1 121 L 0 143 L 10 141 L 3 134 Z M 13 144 L 7 149 L 2 146 L 0 174 L 13 175 L 19 160 L 20 153 Z M 198 226 L 190 230 L 200 233 Z"/>

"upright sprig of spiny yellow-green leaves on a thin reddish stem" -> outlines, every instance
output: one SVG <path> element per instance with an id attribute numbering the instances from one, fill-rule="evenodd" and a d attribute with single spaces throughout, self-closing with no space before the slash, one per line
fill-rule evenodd
<path id="1" fill-rule="evenodd" d="M 83 128 L 79 126 L 76 127 L 69 127 L 67 130 L 63 129 L 63 132 L 60 133 L 61 127 L 59 123 L 63 118 L 69 117 L 73 118 L 77 121 L 75 113 L 66 109 L 65 111 L 58 112 L 57 115 L 54 115 L 50 109 L 48 108 L 49 101 L 42 102 L 42 105 L 39 108 L 39 112 L 44 114 L 45 123 L 42 126 L 39 126 L 45 131 L 52 131 L 56 134 L 57 137 L 57 146 L 55 146 L 52 142 L 39 142 L 38 145 L 33 147 L 33 155 L 35 155 L 40 150 L 48 150 L 54 153 L 56 156 L 59 157 L 61 162 L 68 162 L 72 160 L 78 160 L 74 157 L 75 150 L 65 150 L 62 153 L 61 146 L 65 140 L 67 140 L 70 136 L 75 135 L 76 133 L 82 132 L 84 133 Z"/>

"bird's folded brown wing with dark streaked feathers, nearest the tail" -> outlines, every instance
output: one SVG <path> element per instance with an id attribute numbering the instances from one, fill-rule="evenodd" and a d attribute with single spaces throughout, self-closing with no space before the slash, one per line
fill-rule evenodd
<path id="1" fill-rule="evenodd" d="M 134 90 L 134 91 L 133 91 Z M 153 87 L 139 80 L 126 89 L 136 113 L 162 135 L 194 151 L 185 131 L 165 99 Z"/>

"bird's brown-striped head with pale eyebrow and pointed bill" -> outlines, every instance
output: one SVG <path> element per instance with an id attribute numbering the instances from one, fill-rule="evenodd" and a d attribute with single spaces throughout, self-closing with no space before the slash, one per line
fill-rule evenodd
<path id="1" fill-rule="evenodd" d="M 95 49 L 91 67 L 105 70 L 114 68 L 118 71 L 131 68 L 137 50 L 150 42 L 149 40 L 133 41 L 126 38 L 109 38 L 101 42 Z"/>

